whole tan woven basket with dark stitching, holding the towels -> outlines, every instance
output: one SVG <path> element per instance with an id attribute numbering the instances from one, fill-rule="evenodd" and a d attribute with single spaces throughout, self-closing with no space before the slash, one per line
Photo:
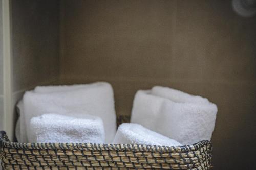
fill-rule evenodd
<path id="1" fill-rule="evenodd" d="M 181 147 L 134 144 L 16 143 L 0 132 L 3 169 L 209 169 L 211 143 Z"/>

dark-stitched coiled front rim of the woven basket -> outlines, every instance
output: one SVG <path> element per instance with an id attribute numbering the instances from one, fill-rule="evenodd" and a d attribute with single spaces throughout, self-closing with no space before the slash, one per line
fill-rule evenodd
<path id="1" fill-rule="evenodd" d="M 99 143 L 19 143 L 9 141 L 5 131 L 0 131 L 0 146 L 11 149 L 50 149 L 50 150 L 91 150 L 91 151 L 145 151 L 145 152 L 190 152 L 203 147 L 212 147 L 209 140 L 191 145 L 159 146 L 147 144 L 99 144 Z"/>

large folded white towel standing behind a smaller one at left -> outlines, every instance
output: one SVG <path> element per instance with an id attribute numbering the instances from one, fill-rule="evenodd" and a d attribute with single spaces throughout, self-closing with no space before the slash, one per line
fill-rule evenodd
<path id="1" fill-rule="evenodd" d="M 72 86 L 49 86 L 49 88 L 47 86 L 39 86 L 34 91 L 26 92 L 23 101 L 19 103 L 18 107 L 20 110 L 19 142 L 29 142 L 31 139 L 30 119 L 47 113 L 66 115 L 72 112 L 79 112 L 99 116 L 104 123 L 105 142 L 110 143 L 115 136 L 114 93 L 111 85 L 106 82 Z M 22 129 L 26 129 L 25 132 Z M 19 133 L 18 127 L 16 132 Z"/>

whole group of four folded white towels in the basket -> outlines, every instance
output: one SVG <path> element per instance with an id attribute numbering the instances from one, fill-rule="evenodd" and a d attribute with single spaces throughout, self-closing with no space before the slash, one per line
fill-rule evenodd
<path id="1" fill-rule="evenodd" d="M 38 86 L 18 103 L 19 142 L 189 145 L 210 140 L 217 106 L 201 96 L 168 87 L 139 90 L 131 123 L 116 132 L 113 89 L 96 82 Z"/>

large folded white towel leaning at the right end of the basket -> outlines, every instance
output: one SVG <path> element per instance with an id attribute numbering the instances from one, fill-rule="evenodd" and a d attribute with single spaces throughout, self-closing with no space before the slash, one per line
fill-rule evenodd
<path id="1" fill-rule="evenodd" d="M 136 93 L 131 123 L 182 144 L 194 144 L 211 139 L 217 111 L 217 106 L 206 98 L 156 86 Z"/>

